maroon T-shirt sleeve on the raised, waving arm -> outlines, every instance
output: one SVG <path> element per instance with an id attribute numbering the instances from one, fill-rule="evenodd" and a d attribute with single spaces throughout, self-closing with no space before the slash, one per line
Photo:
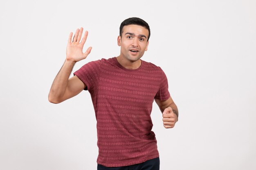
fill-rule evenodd
<path id="1" fill-rule="evenodd" d="M 86 85 L 84 90 L 91 90 L 98 84 L 101 60 L 91 61 L 74 72 Z"/>

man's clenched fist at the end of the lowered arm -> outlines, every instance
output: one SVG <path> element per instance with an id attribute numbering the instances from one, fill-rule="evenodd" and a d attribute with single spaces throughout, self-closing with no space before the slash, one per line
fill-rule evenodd
<path id="1" fill-rule="evenodd" d="M 163 122 L 164 127 L 167 128 L 173 128 L 175 123 L 178 121 L 177 115 L 173 112 L 173 109 L 171 107 L 167 107 L 163 111 Z"/>

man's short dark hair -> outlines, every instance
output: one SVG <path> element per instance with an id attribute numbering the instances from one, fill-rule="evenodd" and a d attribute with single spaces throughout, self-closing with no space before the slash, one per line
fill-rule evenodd
<path id="1" fill-rule="evenodd" d="M 148 23 L 146 23 L 146 21 L 144 21 L 144 20 L 142 20 L 140 18 L 137 18 L 137 17 L 128 18 L 128 19 L 124 20 L 121 23 L 120 28 L 119 28 L 120 36 L 122 36 L 124 26 L 132 25 L 132 24 L 143 26 L 143 27 L 147 28 L 148 29 L 148 39 L 149 39 L 149 37 L 150 37 L 150 28 L 148 26 Z M 148 41 L 148 39 L 147 39 L 147 41 Z"/>

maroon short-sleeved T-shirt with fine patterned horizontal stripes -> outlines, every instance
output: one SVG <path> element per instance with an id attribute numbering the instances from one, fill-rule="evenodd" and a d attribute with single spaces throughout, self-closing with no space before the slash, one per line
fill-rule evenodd
<path id="1" fill-rule="evenodd" d="M 159 157 L 150 118 L 154 98 L 170 97 L 160 67 L 141 60 L 131 70 L 116 57 L 89 62 L 74 72 L 87 86 L 97 119 L 97 163 L 129 166 Z"/>

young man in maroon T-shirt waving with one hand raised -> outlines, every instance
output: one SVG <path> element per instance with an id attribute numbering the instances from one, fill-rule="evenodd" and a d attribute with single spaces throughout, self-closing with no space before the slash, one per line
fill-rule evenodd
<path id="1" fill-rule="evenodd" d="M 83 28 L 69 35 L 66 60 L 49 92 L 49 101 L 60 103 L 83 89 L 92 97 L 97 119 L 98 170 L 159 170 L 159 153 L 150 118 L 153 101 L 162 111 L 165 128 L 173 128 L 178 110 L 168 92 L 160 67 L 141 60 L 148 48 L 150 28 L 140 18 L 121 23 L 117 38 L 118 57 L 89 62 L 69 78 L 74 64 L 85 59 L 88 32 Z M 81 42 L 80 42 L 81 40 Z"/>

